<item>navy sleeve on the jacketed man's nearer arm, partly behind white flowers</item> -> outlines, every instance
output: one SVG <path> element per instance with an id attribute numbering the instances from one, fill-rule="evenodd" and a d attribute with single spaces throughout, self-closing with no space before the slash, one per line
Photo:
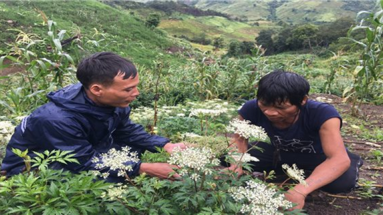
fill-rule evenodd
<path id="1" fill-rule="evenodd" d="M 73 158 L 76 158 L 80 164 L 68 163 L 62 165 L 63 168 L 74 171 L 88 171 L 98 170 L 100 172 L 108 172 L 112 176 L 117 176 L 118 170 L 112 171 L 109 168 L 99 170 L 95 168 L 95 163 L 91 160 L 93 157 L 98 157 L 100 153 L 94 150 L 92 144 L 87 140 L 87 131 L 80 122 L 73 118 L 64 119 L 38 119 L 33 120 L 34 123 L 30 123 L 26 132 L 30 132 L 32 135 L 28 135 L 34 139 L 34 142 L 38 144 L 38 148 L 44 150 L 62 150 L 73 151 L 75 154 Z M 32 150 L 31 150 L 32 151 Z M 33 155 L 33 154 L 31 154 Z M 128 175 L 138 175 L 139 163 L 129 162 L 126 165 L 132 165 L 133 171 L 128 172 Z M 58 164 L 56 164 L 58 165 Z"/>

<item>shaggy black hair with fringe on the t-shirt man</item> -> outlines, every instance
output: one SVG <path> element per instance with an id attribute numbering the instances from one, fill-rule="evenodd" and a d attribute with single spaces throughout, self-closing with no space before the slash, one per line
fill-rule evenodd
<path id="1" fill-rule="evenodd" d="M 310 85 L 303 76 L 294 72 L 274 70 L 259 80 L 257 99 L 266 105 L 290 101 L 299 107 L 308 91 Z"/>

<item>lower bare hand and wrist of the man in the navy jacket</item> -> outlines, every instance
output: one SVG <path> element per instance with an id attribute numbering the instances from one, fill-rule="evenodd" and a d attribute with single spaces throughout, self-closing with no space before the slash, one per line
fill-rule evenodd
<path id="1" fill-rule="evenodd" d="M 177 180 L 180 179 L 181 176 L 174 172 L 172 168 L 177 168 L 174 165 L 170 165 L 167 163 L 142 163 L 139 168 L 139 174 L 146 173 L 153 177 Z M 171 175 L 174 173 L 171 177 Z"/>

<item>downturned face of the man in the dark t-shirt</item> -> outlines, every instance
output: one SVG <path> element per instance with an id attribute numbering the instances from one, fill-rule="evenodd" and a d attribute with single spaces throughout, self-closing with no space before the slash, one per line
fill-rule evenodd
<path id="1" fill-rule="evenodd" d="M 273 123 L 294 121 L 299 112 L 298 107 L 291 104 L 290 101 L 266 105 L 261 100 L 258 100 L 258 106 L 262 113 Z"/>

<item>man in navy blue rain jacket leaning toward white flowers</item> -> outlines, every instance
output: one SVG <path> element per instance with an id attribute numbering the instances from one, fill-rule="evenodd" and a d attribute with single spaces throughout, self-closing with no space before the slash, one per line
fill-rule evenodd
<path id="1" fill-rule="evenodd" d="M 129 119 L 129 104 L 139 95 L 139 74 L 130 61 L 111 52 L 95 53 L 78 65 L 77 78 L 79 84 L 49 93 L 50 102 L 15 128 L 2 164 L 7 175 L 19 174 L 24 168 L 23 160 L 12 148 L 28 149 L 31 157 L 36 156 L 32 151 L 73 151 L 80 164 L 55 163 L 52 168 L 80 172 L 95 170 L 92 158 L 111 148 L 129 146 L 132 151 L 154 152 L 155 147 L 163 147 L 171 153 L 174 147 L 185 147 L 182 143 L 172 144 L 169 139 L 149 135 L 141 125 Z M 168 178 L 173 172 L 166 163 L 127 165 L 133 165 L 133 171 L 128 172 L 130 176 L 146 173 Z M 117 171 L 109 173 L 109 181 L 121 181 Z"/>

